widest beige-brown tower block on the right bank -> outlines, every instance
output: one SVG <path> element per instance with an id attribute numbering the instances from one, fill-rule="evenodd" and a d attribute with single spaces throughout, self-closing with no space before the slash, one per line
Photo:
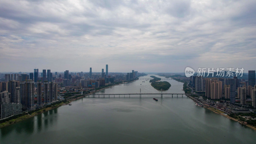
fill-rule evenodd
<path id="1" fill-rule="evenodd" d="M 214 80 L 211 84 L 211 99 L 220 99 L 222 95 L 222 82 Z"/>

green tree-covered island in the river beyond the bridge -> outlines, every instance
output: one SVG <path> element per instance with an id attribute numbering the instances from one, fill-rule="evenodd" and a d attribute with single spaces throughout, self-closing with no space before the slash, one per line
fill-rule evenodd
<path id="1" fill-rule="evenodd" d="M 159 82 L 161 80 L 161 78 L 156 77 L 156 76 L 150 76 L 154 79 L 151 79 L 149 82 L 151 83 L 151 86 L 153 86 L 156 90 L 163 90 L 166 91 L 171 87 L 171 84 L 169 82 Z"/>

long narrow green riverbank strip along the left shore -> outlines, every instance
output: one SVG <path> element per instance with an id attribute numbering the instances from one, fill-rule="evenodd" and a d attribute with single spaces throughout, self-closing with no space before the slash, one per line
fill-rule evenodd
<path id="1" fill-rule="evenodd" d="M 138 80 L 138 79 L 129 81 L 129 82 L 127 82 L 127 83 L 130 83 L 130 82 L 133 82 L 133 81 L 136 81 L 136 80 Z M 123 83 L 119 83 L 119 84 L 123 84 Z M 112 86 L 119 85 L 119 84 L 109 85 L 109 86 L 104 87 L 104 88 L 102 88 L 102 89 L 99 89 L 99 90 L 96 90 L 96 91 L 92 91 L 92 92 L 87 93 L 87 94 L 83 94 L 83 95 L 81 95 L 81 96 L 79 96 L 79 97 L 67 99 L 67 102 L 61 102 L 61 103 L 58 103 L 58 104 L 56 104 L 56 105 L 53 105 L 52 107 L 48 107 L 48 108 L 43 108 L 43 109 L 37 110 L 37 111 L 33 112 L 32 114 L 28 114 L 28 113 L 27 113 L 27 114 L 22 115 L 22 116 L 19 116 L 19 117 L 17 117 L 17 118 L 10 119 L 10 120 L 8 120 L 8 121 L 6 121 L 6 122 L 1 123 L 1 124 L 0 124 L 0 128 L 5 127 L 5 126 L 8 126 L 8 125 L 11 125 L 11 124 L 18 123 L 18 122 L 20 122 L 20 121 L 23 121 L 23 120 L 25 120 L 25 119 L 31 118 L 31 117 L 33 117 L 33 116 L 37 116 L 37 115 L 42 114 L 42 113 L 44 113 L 44 112 L 47 112 L 47 111 L 49 111 L 49 110 L 51 110 L 51 109 L 58 108 L 58 107 L 63 106 L 63 105 L 68 105 L 69 103 L 71 103 L 71 102 L 74 101 L 74 100 L 81 99 L 81 98 L 83 98 L 83 97 L 86 97 L 87 95 L 93 94 L 93 93 L 95 93 L 95 92 L 99 92 L 99 91 L 101 91 L 101 90 L 104 90 L 104 89 L 107 89 L 107 88 L 110 88 L 110 87 L 112 87 Z"/>

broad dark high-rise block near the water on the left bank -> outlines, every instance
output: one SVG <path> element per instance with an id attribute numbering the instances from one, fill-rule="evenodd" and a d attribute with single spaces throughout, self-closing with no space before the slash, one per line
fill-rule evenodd
<path id="1" fill-rule="evenodd" d="M 34 82 L 23 81 L 20 84 L 21 104 L 24 108 L 31 109 L 34 106 Z"/>

